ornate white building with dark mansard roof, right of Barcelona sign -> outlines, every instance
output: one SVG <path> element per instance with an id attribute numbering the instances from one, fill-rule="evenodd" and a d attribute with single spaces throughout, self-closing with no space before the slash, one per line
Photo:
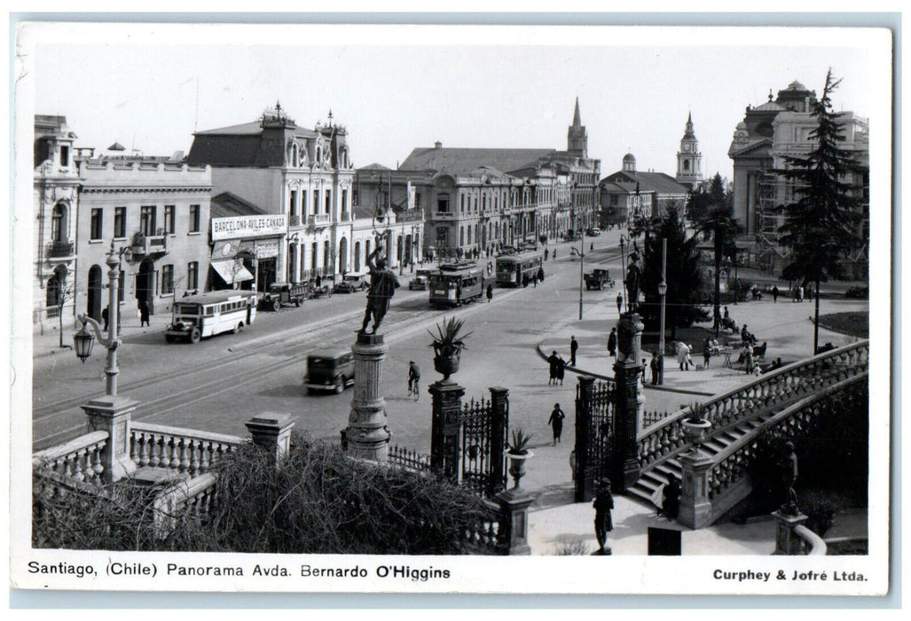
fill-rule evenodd
<path id="1" fill-rule="evenodd" d="M 390 266 L 401 268 L 412 255 L 414 240 L 422 236 L 420 227 L 394 214 L 382 222 L 355 222 L 348 132 L 333 122 L 331 111 L 327 123 L 308 129 L 276 104 L 251 123 L 197 132 L 188 160 L 211 166 L 216 195 L 252 206 L 245 217 L 287 218 L 283 233 L 271 230 L 274 241 L 246 240 L 243 260 L 258 290 L 272 282 L 363 273 L 367 242 L 385 229 L 391 231 L 386 249 Z M 236 241 L 243 246 L 242 239 Z"/>

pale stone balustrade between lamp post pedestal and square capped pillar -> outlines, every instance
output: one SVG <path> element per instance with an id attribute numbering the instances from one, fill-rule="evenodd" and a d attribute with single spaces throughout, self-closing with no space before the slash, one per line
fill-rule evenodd
<path id="1" fill-rule="evenodd" d="M 196 477 L 249 440 L 235 435 L 133 422 L 130 459 L 140 468 L 169 468 Z"/>

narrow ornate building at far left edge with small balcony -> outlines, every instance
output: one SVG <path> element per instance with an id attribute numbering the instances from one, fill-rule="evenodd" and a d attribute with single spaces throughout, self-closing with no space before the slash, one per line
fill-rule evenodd
<path id="1" fill-rule="evenodd" d="M 79 173 L 76 134 L 67 117 L 35 116 L 35 272 L 32 322 L 36 331 L 76 321 Z"/>

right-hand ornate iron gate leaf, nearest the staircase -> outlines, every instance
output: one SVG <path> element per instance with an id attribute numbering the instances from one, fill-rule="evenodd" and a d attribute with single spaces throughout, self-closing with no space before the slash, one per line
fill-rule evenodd
<path id="1" fill-rule="evenodd" d="M 575 501 L 591 500 L 595 483 L 609 476 L 613 449 L 614 384 L 580 377 L 576 384 Z"/>

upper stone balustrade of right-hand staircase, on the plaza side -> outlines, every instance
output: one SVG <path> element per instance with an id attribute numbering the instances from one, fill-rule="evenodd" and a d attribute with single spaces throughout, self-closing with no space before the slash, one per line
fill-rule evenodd
<path id="1" fill-rule="evenodd" d="M 794 362 L 713 397 L 701 404 L 703 418 L 711 422 L 709 434 L 865 372 L 869 353 L 869 341 L 859 341 Z M 689 414 L 689 410 L 683 409 L 640 430 L 637 437 L 640 468 L 657 465 L 688 446 L 682 420 Z"/>

